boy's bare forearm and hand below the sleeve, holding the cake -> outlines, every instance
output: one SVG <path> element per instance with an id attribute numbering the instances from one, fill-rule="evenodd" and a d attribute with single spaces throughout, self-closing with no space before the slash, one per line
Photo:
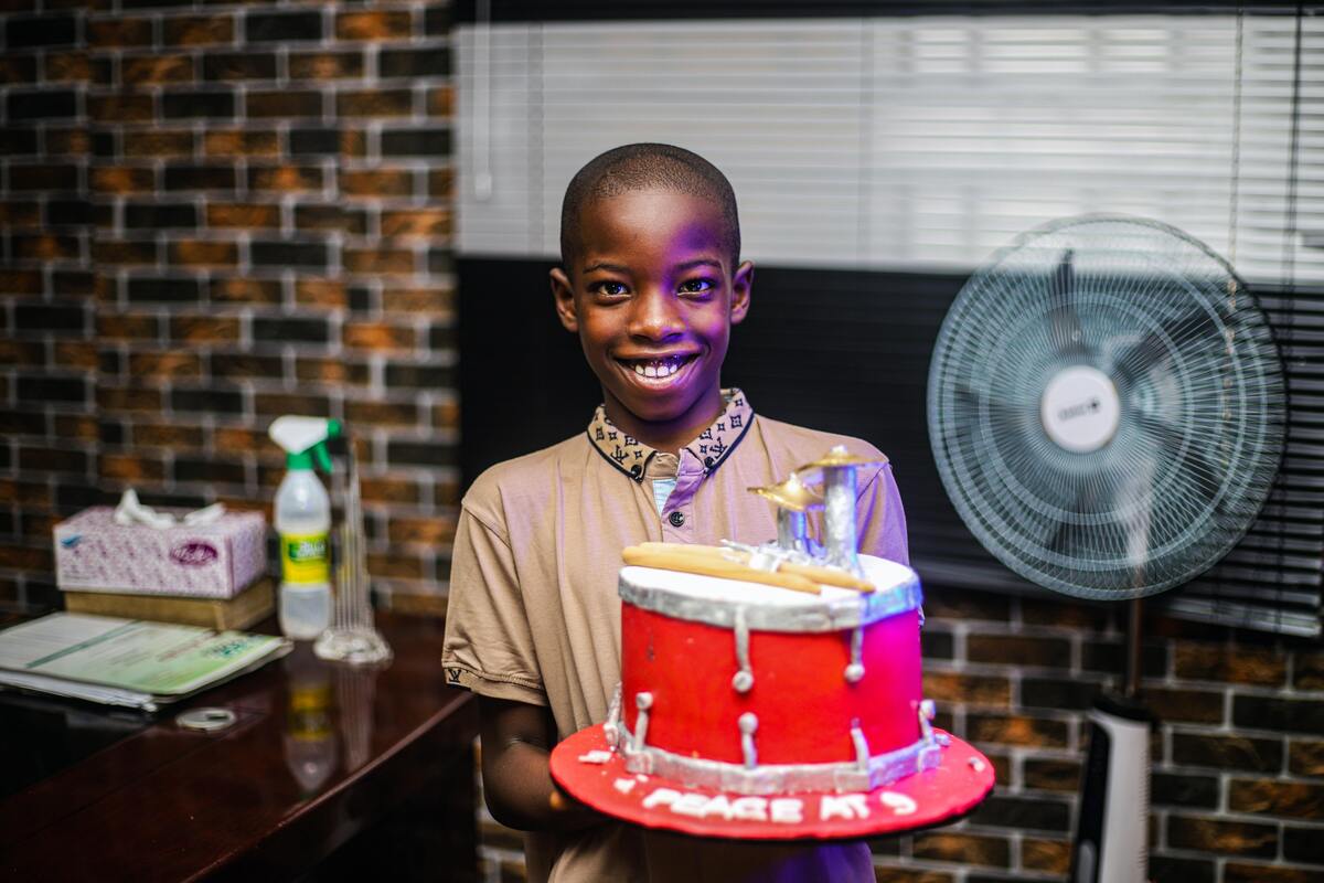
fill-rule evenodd
<path id="1" fill-rule="evenodd" d="M 478 696 L 478 719 L 493 818 L 526 831 L 577 831 L 609 821 L 552 781 L 548 755 L 556 731 L 545 708 Z"/>

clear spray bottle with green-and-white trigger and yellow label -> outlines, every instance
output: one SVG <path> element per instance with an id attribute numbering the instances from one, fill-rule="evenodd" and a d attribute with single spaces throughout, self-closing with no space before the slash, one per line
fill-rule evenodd
<path id="1" fill-rule="evenodd" d="M 269 430 L 286 451 L 285 478 L 275 491 L 281 535 L 281 631 L 311 641 L 331 625 L 331 498 L 312 473 L 331 471 L 326 442 L 340 424 L 320 417 L 278 417 Z"/>

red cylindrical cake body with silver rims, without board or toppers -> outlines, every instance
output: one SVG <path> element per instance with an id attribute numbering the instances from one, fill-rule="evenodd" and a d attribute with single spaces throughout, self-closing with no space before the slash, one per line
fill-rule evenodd
<path id="1" fill-rule="evenodd" d="M 919 580 L 861 563 L 876 590 L 621 571 L 621 696 L 606 735 L 626 769 L 773 794 L 869 790 L 935 765 Z"/>

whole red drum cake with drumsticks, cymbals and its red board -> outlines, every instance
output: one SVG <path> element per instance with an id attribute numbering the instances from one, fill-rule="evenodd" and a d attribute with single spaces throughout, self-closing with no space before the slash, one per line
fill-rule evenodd
<path id="1" fill-rule="evenodd" d="M 855 470 L 884 462 L 834 447 L 751 488 L 777 506 L 776 541 L 626 548 L 621 683 L 605 723 L 552 751 L 557 784 L 733 839 L 870 837 L 977 806 L 993 768 L 923 698 L 919 579 L 855 549 Z"/>

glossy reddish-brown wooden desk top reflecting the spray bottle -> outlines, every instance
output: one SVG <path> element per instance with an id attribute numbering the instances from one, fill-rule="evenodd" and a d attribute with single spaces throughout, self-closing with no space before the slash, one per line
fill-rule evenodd
<path id="1" fill-rule="evenodd" d="M 299 645 L 0 801 L 0 879 L 291 879 L 405 801 L 445 797 L 428 792 L 446 782 L 459 782 L 455 812 L 471 825 L 477 708 L 444 684 L 442 624 L 377 625 L 395 651 L 384 670 Z M 216 733 L 177 727 L 195 707 L 238 720 Z"/>

